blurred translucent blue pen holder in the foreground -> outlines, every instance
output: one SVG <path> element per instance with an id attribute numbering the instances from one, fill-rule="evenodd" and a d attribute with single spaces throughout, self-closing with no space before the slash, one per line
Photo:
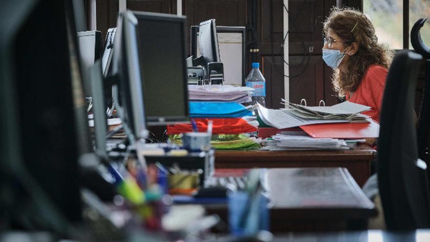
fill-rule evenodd
<path id="1" fill-rule="evenodd" d="M 261 193 L 251 197 L 244 191 L 228 192 L 230 233 L 252 236 L 260 230 L 269 231 L 269 199 Z"/>

